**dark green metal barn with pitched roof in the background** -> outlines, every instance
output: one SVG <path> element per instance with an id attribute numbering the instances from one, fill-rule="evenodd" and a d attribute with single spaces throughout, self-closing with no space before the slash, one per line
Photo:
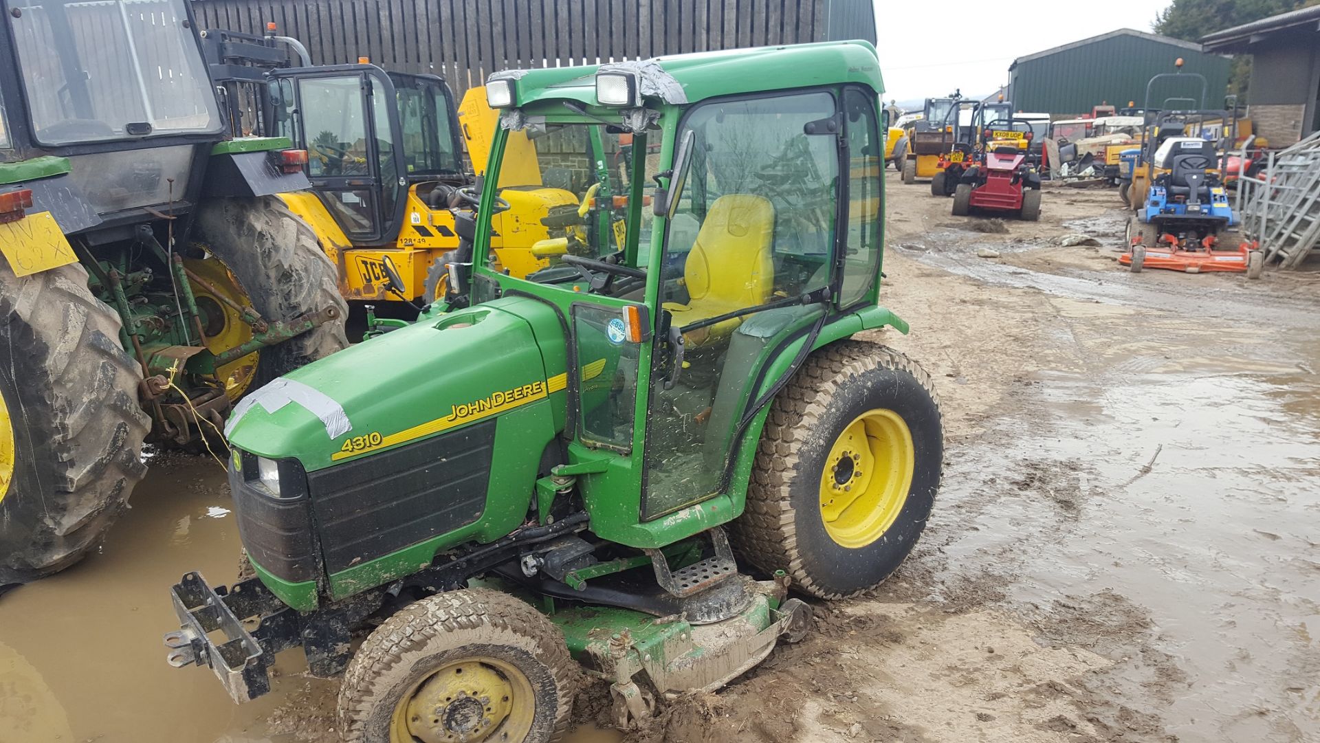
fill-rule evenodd
<path id="1" fill-rule="evenodd" d="M 1158 73 L 1172 73 L 1173 62 L 1185 61 L 1184 73 L 1200 73 L 1208 82 L 1206 107 L 1220 107 L 1229 84 L 1229 58 L 1201 51 L 1200 44 L 1119 29 L 1014 59 L 1008 67 L 1010 95 L 1019 111 L 1055 116 L 1090 113 L 1109 103 L 1123 108 L 1142 106 L 1146 82 Z M 1175 81 L 1176 82 L 1176 81 Z M 1200 86 L 1159 84 L 1152 106 L 1164 98 L 1200 96 Z"/>

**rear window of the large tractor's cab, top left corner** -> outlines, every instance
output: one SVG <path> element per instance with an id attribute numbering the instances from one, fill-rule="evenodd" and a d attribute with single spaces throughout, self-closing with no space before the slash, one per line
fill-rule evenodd
<path id="1" fill-rule="evenodd" d="M 185 0 L 9 0 L 37 141 L 218 132 Z"/>

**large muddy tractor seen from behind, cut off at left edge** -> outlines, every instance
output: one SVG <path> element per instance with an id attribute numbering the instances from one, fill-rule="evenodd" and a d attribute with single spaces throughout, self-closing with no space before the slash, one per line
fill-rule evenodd
<path id="1" fill-rule="evenodd" d="M 0 590 L 77 562 L 144 442 L 213 449 L 243 395 L 343 348 L 288 140 L 232 139 L 185 0 L 0 20 Z"/>

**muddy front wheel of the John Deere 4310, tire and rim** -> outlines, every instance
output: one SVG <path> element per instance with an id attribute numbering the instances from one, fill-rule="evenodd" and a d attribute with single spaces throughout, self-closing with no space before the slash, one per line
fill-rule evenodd
<path id="1" fill-rule="evenodd" d="M 581 672 L 529 604 L 469 589 L 418 600 L 378 627 L 339 689 L 345 743 L 549 743 L 569 727 Z"/>

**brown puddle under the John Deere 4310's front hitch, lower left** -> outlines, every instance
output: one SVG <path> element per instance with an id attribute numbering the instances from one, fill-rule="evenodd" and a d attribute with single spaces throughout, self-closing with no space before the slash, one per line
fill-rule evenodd
<path id="1" fill-rule="evenodd" d="M 178 627 L 169 586 L 190 569 L 234 579 L 239 536 L 224 474 L 205 457 L 160 454 L 100 554 L 0 599 L 0 743 L 305 743 L 337 735 L 304 713 L 333 717 L 337 681 L 275 680 L 234 705 L 210 669 L 165 664 L 161 636 Z M 288 662 L 288 661 L 282 661 Z M 310 689 L 309 689 L 310 686 Z M 301 709 L 315 705 L 321 709 Z M 280 709 L 285 725 L 267 719 Z M 566 743 L 612 743 L 581 730 Z"/>

